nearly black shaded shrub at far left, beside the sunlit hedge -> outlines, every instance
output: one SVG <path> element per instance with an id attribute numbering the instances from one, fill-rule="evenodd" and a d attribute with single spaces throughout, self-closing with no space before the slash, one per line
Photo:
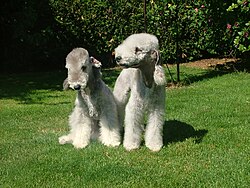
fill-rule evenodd
<path id="1" fill-rule="evenodd" d="M 0 10 L 1 71 L 41 71 L 60 66 L 57 49 L 62 46 L 48 1 L 9 0 Z"/>

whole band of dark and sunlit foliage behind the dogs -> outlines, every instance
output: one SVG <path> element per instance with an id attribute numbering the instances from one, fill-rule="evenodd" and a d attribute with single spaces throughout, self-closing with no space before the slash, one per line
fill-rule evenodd
<path id="1" fill-rule="evenodd" d="M 249 52 L 248 0 L 146 2 L 147 30 L 159 38 L 165 63 L 176 54 L 185 62 Z M 9 0 L 0 12 L 1 72 L 62 69 L 78 46 L 114 66 L 114 48 L 144 32 L 143 1 L 136 0 Z"/>

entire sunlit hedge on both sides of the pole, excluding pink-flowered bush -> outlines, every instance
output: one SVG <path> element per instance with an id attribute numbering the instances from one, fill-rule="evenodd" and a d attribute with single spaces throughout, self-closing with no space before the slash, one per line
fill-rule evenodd
<path id="1" fill-rule="evenodd" d="M 229 3 L 231 1 L 148 2 L 148 32 L 158 36 L 165 61 L 175 61 L 176 40 L 183 61 L 228 53 L 232 42 L 224 22 Z M 50 0 L 50 5 L 57 22 L 71 36 L 70 46 L 83 46 L 97 56 L 110 56 L 128 35 L 144 31 L 142 1 Z"/>

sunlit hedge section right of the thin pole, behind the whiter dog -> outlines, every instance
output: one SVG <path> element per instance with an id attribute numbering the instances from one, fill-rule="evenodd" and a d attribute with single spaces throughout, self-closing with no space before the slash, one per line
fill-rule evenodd
<path id="1" fill-rule="evenodd" d="M 231 49 L 226 36 L 226 7 L 230 1 L 151 1 L 150 32 L 160 38 L 166 61 L 176 59 L 179 43 L 182 61 L 224 55 Z"/>

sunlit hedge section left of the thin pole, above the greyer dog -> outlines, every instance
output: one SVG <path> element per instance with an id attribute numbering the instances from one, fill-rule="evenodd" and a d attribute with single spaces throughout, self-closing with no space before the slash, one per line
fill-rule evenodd
<path id="1" fill-rule="evenodd" d="M 71 46 L 85 47 L 100 58 L 110 57 L 124 38 L 143 29 L 140 1 L 50 0 L 50 5 L 57 22 L 70 34 Z"/>

